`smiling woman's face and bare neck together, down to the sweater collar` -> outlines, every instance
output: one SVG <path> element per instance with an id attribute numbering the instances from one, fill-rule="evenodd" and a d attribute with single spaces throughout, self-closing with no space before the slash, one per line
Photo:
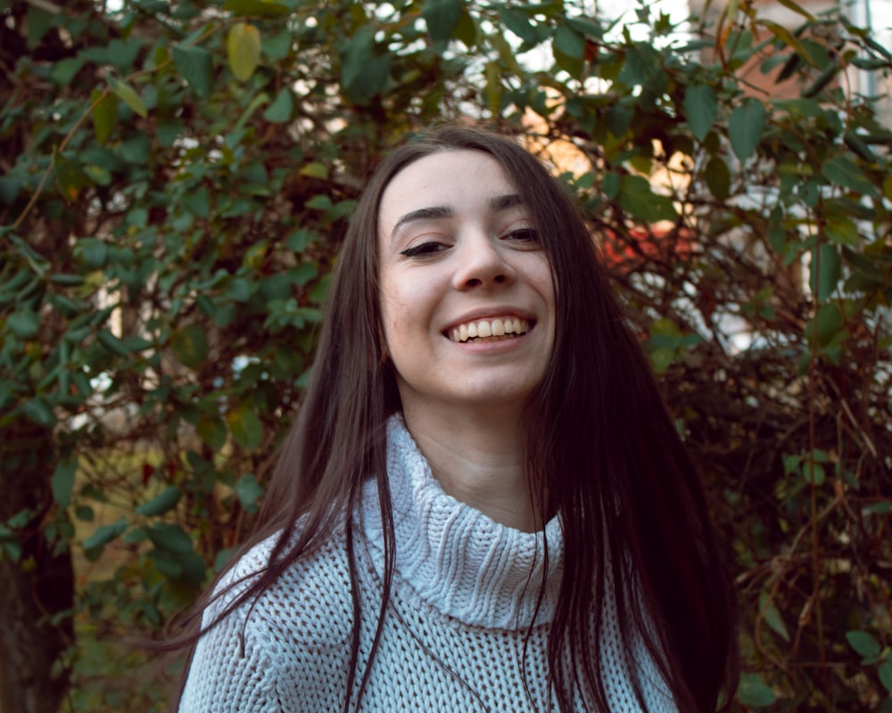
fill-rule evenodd
<path id="1" fill-rule="evenodd" d="M 540 529 L 522 414 L 551 357 L 555 297 L 530 210 L 488 154 L 434 153 L 387 185 L 378 241 L 387 356 L 434 477 L 502 524 Z"/>

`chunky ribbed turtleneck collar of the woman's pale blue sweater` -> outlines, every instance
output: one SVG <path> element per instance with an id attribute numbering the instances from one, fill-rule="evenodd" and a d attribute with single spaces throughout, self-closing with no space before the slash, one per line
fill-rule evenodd
<path id="1" fill-rule="evenodd" d="M 400 414 L 387 424 L 387 472 L 396 536 L 395 574 L 418 596 L 460 621 L 516 629 L 549 622 L 558 599 L 563 540 L 555 517 L 540 532 L 492 520 L 443 492 Z M 364 486 L 361 522 L 382 574 L 384 534 L 374 480 Z M 539 611 L 536 604 L 548 570 Z"/>

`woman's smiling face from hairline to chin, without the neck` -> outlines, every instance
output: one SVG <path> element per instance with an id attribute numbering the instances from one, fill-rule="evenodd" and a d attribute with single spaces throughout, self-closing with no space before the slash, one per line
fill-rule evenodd
<path id="1" fill-rule="evenodd" d="M 381 311 L 404 410 L 523 407 L 554 346 L 555 290 L 500 164 L 439 152 L 403 168 L 378 217 Z"/>

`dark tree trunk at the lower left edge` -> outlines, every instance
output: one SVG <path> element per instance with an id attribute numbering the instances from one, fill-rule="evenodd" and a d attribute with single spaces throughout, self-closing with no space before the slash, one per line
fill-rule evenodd
<path id="1" fill-rule="evenodd" d="M 74 640 L 74 572 L 70 552 L 54 554 L 41 527 L 53 470 L 51 430 L 23 421 L 0 429 L 0 523 L 30 513 L 15 529 L 21 557 L 0 557 L 0 713 L 53 713 L 68 690 L 60 657 Z"/>

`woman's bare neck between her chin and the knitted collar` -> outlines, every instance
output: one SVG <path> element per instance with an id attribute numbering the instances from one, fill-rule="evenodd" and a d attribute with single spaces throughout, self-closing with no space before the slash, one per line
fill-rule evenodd
<path id="1" fill-rule="evenodd" d="M 508 527 L 543 527 L 524 470 L 519 414 L 415 409 L 403 418 L 445 493 Z"/>

